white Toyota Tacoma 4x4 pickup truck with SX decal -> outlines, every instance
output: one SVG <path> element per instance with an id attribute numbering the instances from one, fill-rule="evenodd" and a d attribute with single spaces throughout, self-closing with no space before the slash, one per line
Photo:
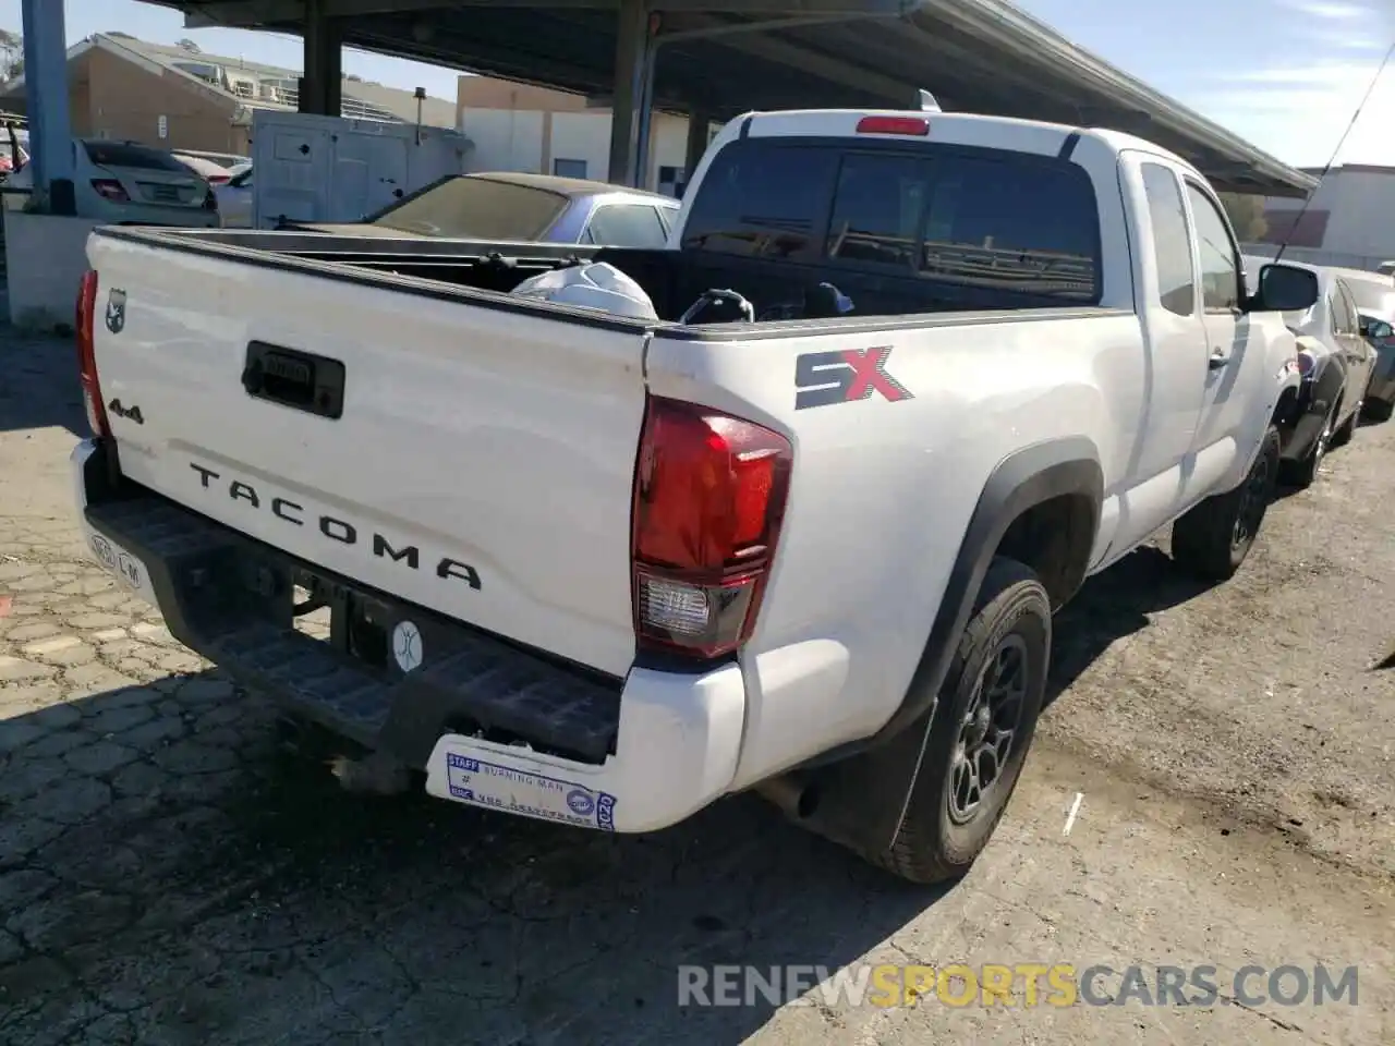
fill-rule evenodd
<path id="1" fill-rule="evenodd" d="M 576 257 L 660 319 L 509 294 Z M 735 120 L 667 250 L 88 258 L 81 517 L 177 639 L 442 799 L 635 833 L 757 789 L 915 881 L 988 842 L 1087 575 L 1169 523 L 1244 559 L 1315 298 L 1246 294 L 1177 156 L 939 113 Z M 679 322 L 709 289 L 755 318 Z"/>

